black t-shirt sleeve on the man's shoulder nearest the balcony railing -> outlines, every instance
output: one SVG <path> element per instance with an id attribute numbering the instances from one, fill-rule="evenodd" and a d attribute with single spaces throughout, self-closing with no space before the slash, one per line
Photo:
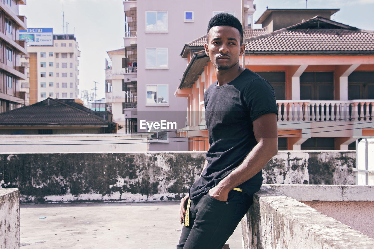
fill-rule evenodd
<path id="1" fill-rule="evenodd" d="M 276 113 L 278 107 L 272 85 L 262 78 L 252 80 L 244 92 L 244 100 L 250 111 L 252 122 L 267 113 Z"/>

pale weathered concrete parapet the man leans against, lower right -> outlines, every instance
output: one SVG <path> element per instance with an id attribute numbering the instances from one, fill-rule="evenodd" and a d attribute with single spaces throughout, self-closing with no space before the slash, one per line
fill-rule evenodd
<path id="1" fill-rule="evenodd" d="M 269 186 L 254 195 L 242 233 L 245 249 L 374 248 L 374 239 Z"/>

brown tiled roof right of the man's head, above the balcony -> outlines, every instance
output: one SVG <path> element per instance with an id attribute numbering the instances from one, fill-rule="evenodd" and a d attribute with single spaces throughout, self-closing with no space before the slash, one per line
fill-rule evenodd
<path id="1" fill-rule="evenodd" d="M 314 19 L 324 21 L 323 18 Z M 328 20 L 327 25 L 334 22 Z M 359 30 L 335 22 L 335 28 L 302 28 L 300 23 L 288 28 L 246 39 L 245 45 L 250 52 L 374 52 L 373 31 Z M 347 27 L 347 28 L 342 28 Z"/>

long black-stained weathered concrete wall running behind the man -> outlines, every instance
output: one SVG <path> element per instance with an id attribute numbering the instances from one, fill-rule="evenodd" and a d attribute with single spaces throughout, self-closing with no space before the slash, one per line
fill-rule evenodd
<path id="1" fill-rule="evenodd" d="M 326 178 L 354 184 L 354 156 L 280 152 L 264 168 L 264 183 L 308 184 L 309 168 L 325 163 Z M 21 202 L 176 200 L 199 177 L 204 160 L 205 152 L 0 154 L 0 188 L 19 188 Z"/>

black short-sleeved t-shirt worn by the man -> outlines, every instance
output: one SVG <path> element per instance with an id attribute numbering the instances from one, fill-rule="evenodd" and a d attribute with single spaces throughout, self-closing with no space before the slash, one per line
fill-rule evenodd
<path id="1" fill-rule="evenodd" d="M 208 166 L 190 187 L 190 199 L 206 194 L 243 162 L 257 144 L 252 122 L 261 115 L 276 113 L 274 89 L 258 74 L 245 69 L 236 79 L 223 86 L 217 82 L 204 93 L 205 122 L 210 148 Z M 240 184 L 248 195 L 262 185 L 262 171 Z"/>

